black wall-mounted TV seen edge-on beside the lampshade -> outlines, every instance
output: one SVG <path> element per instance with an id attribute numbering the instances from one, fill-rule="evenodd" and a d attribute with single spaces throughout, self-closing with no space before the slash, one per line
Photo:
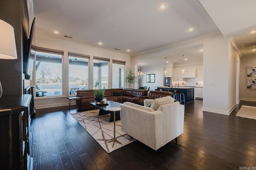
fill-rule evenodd
<path id="1" fill-rule="evenodd" d="M 26 41 L 26 49 L 25 49 L 25 53 L 23 54 L 23 73 L 25 74 L 26 80 L 30 80 L 33 72 L 33 67 L 34 67 L 35 53 L 34 51 L 31 50 L 31 47 L 32 47 L 33 34 L 34 34 L 35 20 L 36 18 L 34 18 L 32 22 L 31 29 L 30 29 L 30 36 L 29 36 L 29 39 L 27 39 Z"/>

